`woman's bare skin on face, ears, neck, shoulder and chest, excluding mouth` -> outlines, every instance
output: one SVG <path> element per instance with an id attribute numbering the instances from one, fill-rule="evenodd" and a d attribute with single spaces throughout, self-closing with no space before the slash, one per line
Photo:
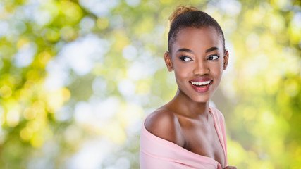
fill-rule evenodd
<path id="1" fill-rule="evenodd" d="M 202 39 L 202 40 L 201 40 Z M 218 161 L 225 168 L 225 156 L 209 113 L 209 100 L 228 65 L 228 51 L 213 27 L 187 27 L 180 30 L 164 59 L 174 71 L 178 91 L 168 104 L 154 111 L 145 121 L 149 132 L 195 154 Z M 196 92 L 191 81 L 209 77 L 206 92 Z M 227 166 L 226 169 L 235 167 Z"/>

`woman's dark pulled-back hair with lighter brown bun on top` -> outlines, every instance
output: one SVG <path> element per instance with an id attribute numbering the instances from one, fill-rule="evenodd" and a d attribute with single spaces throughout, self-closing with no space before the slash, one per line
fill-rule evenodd
<path id="1" fill-rule="evenodd" d="M 169 52 L 171 52 L 171 46 L 175 42 L 178 32 L 186 27 L 214 27 L 219 33 L 223 41 L 223 49 L 225 49 L 223 30 L 221 30 L 219 23 L 207 13 L 197 10 L 195 7 L 178 6 L 169 19 L 171 22 L 171 28 L 168 32 Z"/>

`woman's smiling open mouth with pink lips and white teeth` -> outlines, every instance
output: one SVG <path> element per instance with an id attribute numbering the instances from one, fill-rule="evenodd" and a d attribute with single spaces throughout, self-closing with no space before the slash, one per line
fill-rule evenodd
<path id="1" fill-rule="evenodd" d="M 213 80 L 209 77 L 197 77 L 189 81 L 192 88 L 196 92 L 207 92 L 212 84 Z"/>

